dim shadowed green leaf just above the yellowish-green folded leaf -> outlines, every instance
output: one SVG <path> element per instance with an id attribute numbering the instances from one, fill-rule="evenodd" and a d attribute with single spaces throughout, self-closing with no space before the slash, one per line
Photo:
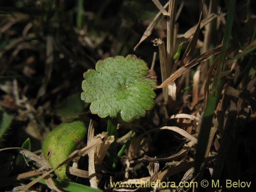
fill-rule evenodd
<path id="1" fill-rule="evenodd" d="M 56 106 L 57 115 L 65 118 L 78 118 L 86 104 L 81 101 L 80 93 L 68 96 Z"/>

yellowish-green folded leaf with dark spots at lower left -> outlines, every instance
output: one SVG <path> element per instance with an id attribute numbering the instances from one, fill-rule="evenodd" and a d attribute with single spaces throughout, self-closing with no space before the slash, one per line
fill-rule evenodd
<path id="1" fill-rule="evenodd" d="M 81 121 L 61 123 L 45 139 L 42 144 L 42 152 L 52 168 L 57 167 L 66 160 L 84 139 L 86 127 Z M 66 166 L 63 165 L 55 170 L 60 180 L 68 180 Z"/>

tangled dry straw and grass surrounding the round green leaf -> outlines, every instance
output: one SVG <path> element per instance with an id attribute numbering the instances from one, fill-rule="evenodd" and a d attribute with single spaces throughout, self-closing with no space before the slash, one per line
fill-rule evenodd
<path id="1" fill-rule="evenodd" d="M 1 190 L 204 191 L 136 182 L 206 179 L 220 181 L 208 190 L 227 191 L 227 179 L 252 181 L 255 3 L 89 2 L 0 3 Z M 82 74 L 99 59 L 128 54 L 157 76 L 157 97 L 144 117 L 118 124 L 117 148 L 127 146 L 110 170 L 104 157 L 114 137 L 81 101 Z M 59 181 L 41 143 L 73 120 L 88 127 L 87 136 L 61 164 L 71 180 Z"/>

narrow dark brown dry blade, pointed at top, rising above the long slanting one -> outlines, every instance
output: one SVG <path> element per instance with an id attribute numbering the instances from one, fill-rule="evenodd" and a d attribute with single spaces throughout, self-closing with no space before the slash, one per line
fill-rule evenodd
<path id="1" fill-rule="evenodd" d="M 198 37 L 199 37 L 199 33 L 200 33 L 200 23 L 201 23 L 201 19 L 202 19 L 202 12 L 200 14 L 200 18 L 199 18 L 199 22 L 198 22 L 198 25 L 197 25 L 197 29 L 191 39 L 191 41 L 189 42 L 183 56 L 182 56 L 182 59 L 181 59 L 181 65 L 182 66 L 185 66 L 187 65 L 187 63 L 191 60 L 192 58 L 192 55 L 195 51 L 195 47 L 197 45 L 197 40 L 198 40 Z"/>

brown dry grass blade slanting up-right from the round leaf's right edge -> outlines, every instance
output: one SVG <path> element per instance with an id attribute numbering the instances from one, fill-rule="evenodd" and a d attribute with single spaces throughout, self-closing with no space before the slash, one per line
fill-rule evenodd
<path id="1" fill-rule="evenodd" d="M 157 86 L 157 89 L 164 88 L 167 86 L 170 82 L 174 82 L 177 78 L 179 78 L 181 75 L 183 75 L 189 68 L 196 66 L 199 62 L 207 59 L 208 57 L 212 55 L 216 55 L 220 53 L 221 47 L 210 49 L 209 51 L 203 53 L 202 55 L 198 56 L 196 59 L 190 61 L 187 63 L 186 66 L 183 66 L 179 68 L 177 71 L 175 71 L 172 75 L 170 75 L 160 86 Z"/>

